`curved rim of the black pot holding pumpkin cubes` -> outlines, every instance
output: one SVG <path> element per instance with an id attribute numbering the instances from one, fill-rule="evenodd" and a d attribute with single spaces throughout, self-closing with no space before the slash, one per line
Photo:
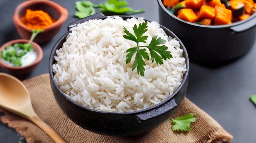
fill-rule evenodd
<path id="1" fill-rule="evenodd" d="M 201 24 L 195 24 L 195 23 L 191 23 L 191 22 L 187 22 L 187 21 L 184 21 L 180 18 L 178 18 L 177 16 L 175 16 L 174 14 L 170 13 L 166 8 L 165 6 L 163 5 L 162 3 L 162 0 L 157 0 L 158 2 L 158 5 L 164 10 L 164 12 L 168 15 L 170 15 L 172 18 L 178 20 L 178 21 L 181 21 L 185 24 L 189 24 L 189 25 L 192 25 L 192 26 L 198 26 L 198 27 L 204 27 L 204 28 L 226 28 L 226 27 L 232 27 L 232 26 L 236 26 L 236 25 L 239 25 L 239 24 L 243 24 L 243 23 L 246 23 L 247 21 L 250 21 L 254 18 L 256 18 L 256 12 L 254 14 L 252 14 L 249 18 L 245 19 L 245 20 L 242 20 L 242 21 L 239 21 L 239 22 L 235 22 L 235 23 L 232 23 L 232 24 L 224 24 L 224 25 L 201 25 Z"/>

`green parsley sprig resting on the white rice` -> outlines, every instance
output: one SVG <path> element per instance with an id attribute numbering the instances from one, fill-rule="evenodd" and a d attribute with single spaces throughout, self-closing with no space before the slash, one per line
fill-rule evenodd
<path id="1" fill-rule="evenodd" d="M 133 27 L 135 36 L 124 27 L 124 33 L 127 35 L 123 35 L 123 38 L 135 41 L 137 43 L 137 47 L 133 47 L 125 51 L 126 53 L 128 53 L 126 55 L 126 64 L 131 62 L 133 55 L 136 53 L 135 60 L 132 65 L 132 70 L 134 70 L 137 67 L 138 74 L 142 76 L 144 76 L 144 71 L 145 71 L 144 66 L 146 65 L 144 59 L 149 60 L 149 56 L 145 48 L 148 48 L 152 62 L 156 60 L 156 63 L 159 65 L 163 64 L 163 59 L 166 60 L 166 59 L 172 58 L 171 52 L 167 51 L 168 47 L 166 47 L 165 45 L 162 45 L 164 44 L 165 40 L 162 39 L 161 37 L 157 38 L 157 36 L 153 36 L 148 46 L 145 46 L 145 45 L 139 46 L 139 42 L 146 43 L 148 36 L 142 36 L 142 35 L 148 31 L 148 29 L 146 29 L 147 27 L 148 27 L 147 22 L 140 23 L 139 27 L 135 24 Z M 162 46 L 158 46 L 158 45 L 162 45 Z M 145 47 L 145 48 L 140 49 L 142 47 Z"/>

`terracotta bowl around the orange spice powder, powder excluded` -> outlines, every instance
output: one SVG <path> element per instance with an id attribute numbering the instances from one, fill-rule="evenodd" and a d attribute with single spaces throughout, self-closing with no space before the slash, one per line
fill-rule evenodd
<path id="1" fill-rule="evenodd" d="M 29 0 L 17 6 L 13 15 L 13 22 L 23 39 L 30 39 L 32 28 L 21 23 L 20 18 L 25 15 L 27 9 L 43 10 L 56 20 L 52 25 L 46 27 L 43 33 L 40 33 L 33 40 L 36 43 L 44 43 L 51 40 L 61 29 L 62 24 L 68 17 L 67 9 L 49 0 Z"/>

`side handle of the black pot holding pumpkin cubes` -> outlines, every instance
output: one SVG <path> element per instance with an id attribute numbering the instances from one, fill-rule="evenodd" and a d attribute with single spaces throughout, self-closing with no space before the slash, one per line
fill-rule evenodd
<path id="1" fill-rule="evenodd" d="M 245 32 L 245 31 L 253 28 L 254 26 L 256 26 L 256 16 L 254 16 L 254 18 L 250 19 L 249 21 L 247 21 L 243 24 L 239 24 L 237 26 L 230 27 L 230 30 L 232 31 L 232 33 L 236 34 L 236 33 Z"/>

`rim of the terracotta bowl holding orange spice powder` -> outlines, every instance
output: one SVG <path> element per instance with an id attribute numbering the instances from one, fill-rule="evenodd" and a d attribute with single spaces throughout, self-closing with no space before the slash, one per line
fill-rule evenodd
<path id="1" fill-rule="evenodd" d="M 19 19 L 19 13 L 20 10 L 22 10 L 25 7 L 30 7 L 32 5 L 36 5 L 36 4 L 45 4 L 51 8 L 53 8 L 55 10 L 55 12 L 59 12 L 60 16 L 59 18 L 52 24 L 47 26 L 46 28 L 44 28 L 44 32 L 50 31 L 52 29 L 55 29 L 57 27 L 59 27 L 59 25 L 63 24 L 66 19 L 68 18 L 68 10 L 66 8 L 63 8 L 62 6 L 56 4 L 53 1 L 50 0 L 29 0 L 29 1 L 24 1 L 22 3 L 20 3 L 14 11 L 13 14 L 13 22 L 15 25 L 19 25 L 21 26 L 23 29 L 25 29 L 26 31 L 32 32 L 32 28 L 27 27 L 26 25 L 24 25 L 23 23 L 21 23 L 20 19 Z"/>

